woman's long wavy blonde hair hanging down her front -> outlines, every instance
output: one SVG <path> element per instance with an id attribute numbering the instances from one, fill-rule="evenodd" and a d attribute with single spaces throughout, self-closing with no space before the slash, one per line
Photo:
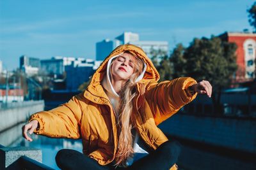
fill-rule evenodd
<path id="1" fill-rule="evenodd" d="M 124 53 L 131 52 L 125 51 Z M 134 55 L 133 55 L 134 56 Z M 124 87 L 120 90 L 120 104 L 118 108 L 117 127 L 118 127 L 118 150 L 116 153 L 115 161 L 116 166 L 124 166 L 127 158 L 132 155 L 132 99 L 136 96 L 135 86 L 136 78 L 140 76 L 143 70 L 143 62 L 138 57 L 134 56 L 134 73 L 132 73 L 129 80 L 125 83 Z"/>

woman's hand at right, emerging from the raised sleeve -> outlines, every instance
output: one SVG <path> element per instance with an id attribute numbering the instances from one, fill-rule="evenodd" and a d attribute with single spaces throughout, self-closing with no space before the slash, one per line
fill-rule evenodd
<path id="1" fill-rule="evenodd" d="M 212 95 L 212 86 L 209 81 L 203 80 L 195 85 L 191 85 L 189 89 L 198 92 L 198 94 L 207 94 L 207 96 L 211 97 Z"/>

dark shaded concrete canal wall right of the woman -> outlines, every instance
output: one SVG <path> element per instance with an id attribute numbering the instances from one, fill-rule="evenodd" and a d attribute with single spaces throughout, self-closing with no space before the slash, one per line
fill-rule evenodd
<path id="1" fill-rule="evenodd" d="M 256 153 L 256 120 L 177 113 L 159 127 L 170 136 Z"/>

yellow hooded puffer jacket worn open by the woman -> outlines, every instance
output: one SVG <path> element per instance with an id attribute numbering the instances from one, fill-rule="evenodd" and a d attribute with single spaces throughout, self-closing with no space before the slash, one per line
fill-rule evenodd
<path id="1" fill-rule="evenodd" d="M 154 150 L 168 141 L 157 125 L 195 99 L 196 94 L 189 94 L 187 88 L 196 81 L 184 77 L 157 83 L 159 73 L 156 68 L 143 50 L 134 45 L 121 45 L 113 50 L 93 74 L 88 88 L 72 97 L 68 103 L 32 115 L 29 121 L 36 119 L 40 124 L 40 129 L 35 133 L 52 138 L 82 138 L 83 153 L 97 160 L 100 165 L 112 162 L 118 145 L 116 118 L 100 81 L 106 73 L 108 60 L 126 50 L 147 64 L 143 79 L 136 86 L 138 95 L 133 100 L 132 122 L 136 131 Z M 177 167 L 173 166 L 172 169 Z"/>

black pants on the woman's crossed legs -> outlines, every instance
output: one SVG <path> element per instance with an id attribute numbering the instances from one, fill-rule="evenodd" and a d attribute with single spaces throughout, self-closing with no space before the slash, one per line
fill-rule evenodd
<path id="1" fill-rule="evenodd" d="M 149 153 L 132 166 L 121 169 L 170 169 L 177 162 L 180 154 L 180 144 L 177 141 L 166 141 L 160 145 L 157 150 Z M 93 170 L 111 170 L 115 169 L 113 164 L 100 166 L 98 162 L 76 150 L 62 149 L 56 155 L 56 164 L 60 169 L 93 169 Z"/>

